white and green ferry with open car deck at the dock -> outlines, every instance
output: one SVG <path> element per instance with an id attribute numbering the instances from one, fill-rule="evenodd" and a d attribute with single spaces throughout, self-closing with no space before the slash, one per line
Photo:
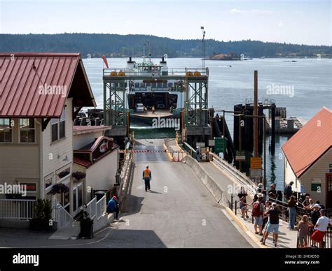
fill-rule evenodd
<path id="1" fill-rule="evenodd" d="M 130 110 L 132 121 L 179 117 L 184 108 L 184 80 L 172 78 L 174 71 L 169 71 L 166 58 L 164 55 L 159 64 L 155 64 L 151 57 L 143 57 L 141 62 L 129 57 L 123 73 L 128 78 L 125 108 Z"/>

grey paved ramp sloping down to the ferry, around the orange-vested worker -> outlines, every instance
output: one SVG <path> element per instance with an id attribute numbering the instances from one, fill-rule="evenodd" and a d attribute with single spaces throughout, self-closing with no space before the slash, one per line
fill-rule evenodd
<path id="1" fill-rule="evenodd" d="M 137 140 L 134 173 L 116 233 L 117 247 L 251 247 L 186 163 L 171 162 L 164 140 Z M 142 172 L 149 165 L 151 191 Z"/>

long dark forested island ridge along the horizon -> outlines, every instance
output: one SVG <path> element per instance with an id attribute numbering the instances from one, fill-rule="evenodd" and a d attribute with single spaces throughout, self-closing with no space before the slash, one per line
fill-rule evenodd
<path id="1" fill-rule="evenodd" d="M 179 40 L 149 35 L 118 34 L 0 34 L 0 52 L 81 52 L 85 57 L 202 57 L 200 39 Z M 145 45 L 144 45 L 145 44 Z M 332 46 L 265 43 L 262 41 L 205 41 L 205 56 L 235 60 L 250 57 L 332 57 Z M 145 49 L 145 50 L 144 50 Z M 145 51 L 145 52 L 144 52 Z M 236 53 L 235 53 L 236 52 Z M 221 56 L 220 54 L 223 54 Z M 236 57 L 235 57 L 236 55 Z"/>

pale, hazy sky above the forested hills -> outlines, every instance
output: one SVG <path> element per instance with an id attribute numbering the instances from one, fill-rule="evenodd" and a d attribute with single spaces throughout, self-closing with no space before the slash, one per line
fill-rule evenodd
<path id="1" fill-rule="evenodd" d="M 1 34 L 149 34 L 332 45 L 331 0 L 0 0 Z"/>

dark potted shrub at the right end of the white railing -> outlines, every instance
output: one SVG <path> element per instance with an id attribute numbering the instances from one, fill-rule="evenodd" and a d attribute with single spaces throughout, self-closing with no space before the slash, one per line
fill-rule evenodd
<path id="1" fill-rule="evenodd" d="M 34 203 L 34 218 L 29 221 L 30 230 L 51 231 L 53 224 L 52 202 L 39 198 Z"/>

